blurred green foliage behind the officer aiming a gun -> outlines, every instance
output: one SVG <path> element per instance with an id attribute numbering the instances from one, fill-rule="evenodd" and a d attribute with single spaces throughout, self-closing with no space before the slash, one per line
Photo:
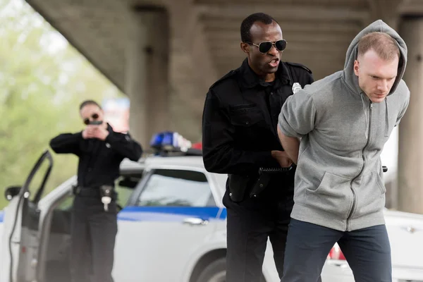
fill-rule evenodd
<path id="1" fill-rule="evenodd" d="M 83 99 L 122 96 L 23 0 L 0 0 L 0 209 L 49 140 L 82 130 Z M 75 174 L 78 159 L 54 154 L 47 191 Z"/>

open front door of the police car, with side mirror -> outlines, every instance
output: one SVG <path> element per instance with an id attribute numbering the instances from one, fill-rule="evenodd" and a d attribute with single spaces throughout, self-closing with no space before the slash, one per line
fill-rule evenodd
<path id="1" fill-rule="evenodd" d="M 1 238 L 1 282 L 37 281 L 39 247 L 38 202 L 49 178 L 53 159 L 44 152 L 21 187 L 7 188 L 9 200 L 4 209 L 4 230 Z M 37 184 L 39 183 L 39 184 Z"/>

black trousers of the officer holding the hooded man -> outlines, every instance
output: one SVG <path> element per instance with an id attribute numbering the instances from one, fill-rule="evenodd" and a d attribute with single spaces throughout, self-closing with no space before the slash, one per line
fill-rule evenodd
<path id="1" fill-rule="evenodd" d="M 289 185 L 293 186 L 293 183 Z M 226 282 L 264 281 L 262 265 L 268 238 L 274 251 L 276 269 L 282 276 L 286 236 L 293 209 L 293 192 L 281 195 L 281 191 L 286 189 L 283 186 L 286 185 L 272 185 L 257 198 L 247 195 L 242 202 L 233 202 L 226 190 L 223 196 L 228 214 Z"/>

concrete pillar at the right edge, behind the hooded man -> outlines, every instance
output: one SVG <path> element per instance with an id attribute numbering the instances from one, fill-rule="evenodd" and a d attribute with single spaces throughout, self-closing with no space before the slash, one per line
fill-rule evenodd
<path id="1" fill-rule="evenodd" d="M 408 47 L 404 80 L 411 97 L 399 128 L 398 209 L 423 214 L 423 18 L 403 18 L 400 35 Z"/>

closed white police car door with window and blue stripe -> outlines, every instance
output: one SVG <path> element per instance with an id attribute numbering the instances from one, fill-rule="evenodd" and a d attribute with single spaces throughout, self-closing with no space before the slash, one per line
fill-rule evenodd
<path id="1" fill-rule="evenodd" d="M 152 169 L 118 214 L 115 281 L 184 282 L 192 254 L 223 220 L 204 170 Z"/>

